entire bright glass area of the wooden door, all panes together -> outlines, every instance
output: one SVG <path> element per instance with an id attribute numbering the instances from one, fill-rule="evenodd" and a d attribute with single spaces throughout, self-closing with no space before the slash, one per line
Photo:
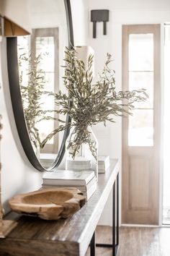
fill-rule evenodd
<path id="1" fill-rule="evenodd" d="M 129 116 L 128 145 L 153 146 L 153 34 L 129 35 L 128 88 L 146 89 L 146 102 L 134 103 Z"/>

